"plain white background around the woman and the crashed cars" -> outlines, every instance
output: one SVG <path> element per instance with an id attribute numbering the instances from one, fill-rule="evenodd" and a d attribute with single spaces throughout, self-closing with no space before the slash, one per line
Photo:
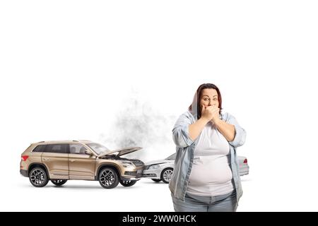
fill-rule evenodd
<path id="1" fill-rule="evenodd" d="M 201 83 L 215 83 L 247 131 L 237 210 L 317 211 L 317 10 L 316 1 L 1 1 L 0 210 L 173 211 L 167 184 L 147 179 L 37 189 L 19 174 L 20 154 L 37 141 L 120 148 L 132 136 L 142 160 L 167 157 L 175 120 Z M 145 115 L 141 136 L 118 127 Z"/>

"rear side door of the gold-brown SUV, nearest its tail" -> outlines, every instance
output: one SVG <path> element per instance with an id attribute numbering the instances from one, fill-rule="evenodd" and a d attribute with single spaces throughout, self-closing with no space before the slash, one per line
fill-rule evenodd
<path id="1" fill-rule="evenodd" d="M 42 154 L 42 162 L 49 171 L 50 179 L 69 179 L 68 145 L 64 143 L 48 144 Z"/>

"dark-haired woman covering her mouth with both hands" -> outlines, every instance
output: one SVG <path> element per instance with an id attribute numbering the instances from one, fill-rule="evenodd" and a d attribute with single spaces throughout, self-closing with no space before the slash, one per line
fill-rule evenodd
<path id="1" fill-rule="evenodd" d="M 236 148 L 246 132 L 221 110 L 220 90 L 202 84 L 173 128 L 177 156 L 169 188 L 177 212 L 236 211 L 242 196 Z"/>

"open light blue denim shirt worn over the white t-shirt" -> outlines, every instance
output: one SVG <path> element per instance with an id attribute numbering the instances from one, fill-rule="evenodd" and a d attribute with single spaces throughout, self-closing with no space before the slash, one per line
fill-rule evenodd
<path id="1" fill-rule="evenodd" d="M 235 138 L 230 141 L 230 168 L 232 170 L 233 182 L 237 194 L 237 202 L 242 196 L 242 185 L 239 174 L 239 162 L 237 159 L 236 148 L 245 143 L 246 132 L 237 123 L 235 117 L 228 113 L 220 114 L 220 119 L 226 121 L 228 124 L 235 126 Z M 194 149 L 198 143 L 198 138 L 192 141 L 189 137 L 189 125 L 196 121 L 196 115 L 187 111 L 182 114 L 175 127 L 172 130 L 173 141 L 177 145 L 177 155 L 175 158 L 175 169 L 173 170 L 172 179 L 169 183 L 169 188 L 175 198 L 184 201 L 184 196 L 187 191 L 189 177 L 192 169 L 194 159 Z M 200 134 L 201 135 L 201 134 Z"/>

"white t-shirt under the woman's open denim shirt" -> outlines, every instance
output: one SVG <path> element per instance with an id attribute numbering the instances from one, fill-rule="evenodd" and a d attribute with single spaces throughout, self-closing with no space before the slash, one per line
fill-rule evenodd
<path id="1" fill-rule="evenodd" d="M 194 150 L 194 162 L 187 193 L 219 196 L 233 191 L 230 145 L 216 127 L 208 122 Z"/>

